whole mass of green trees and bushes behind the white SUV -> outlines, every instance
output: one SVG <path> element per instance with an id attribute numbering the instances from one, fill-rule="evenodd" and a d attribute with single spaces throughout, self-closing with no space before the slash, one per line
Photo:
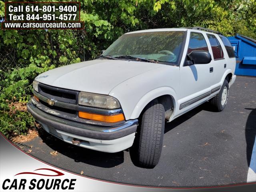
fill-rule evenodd
<path id="1" fill-rule="evenodd" d="M 80 0 L 84 30 L 0 30 L 0 131 L 25 134 L 33 118 L 32 80 L 59 66 L 94 59 L 125 32 L 202 26 L 256 38 L 256 0 Z M 4 2 L 0 1 L 0 20 Z M 18 102 L 18 103 L 17 103 Z M 14 105 L 15 104 L 15 105 Z"/>

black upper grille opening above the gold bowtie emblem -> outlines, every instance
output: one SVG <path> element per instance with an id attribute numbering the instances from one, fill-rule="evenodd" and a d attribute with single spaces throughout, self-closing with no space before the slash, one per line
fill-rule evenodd
<path id="1" fill-rule="evenodd" d="M 38 92 L 47 98 L 54 98 L 57 101 L 70 104 L 77 104 L 78 91 L 56 88 L 40 83 L 38 85 Z"/>

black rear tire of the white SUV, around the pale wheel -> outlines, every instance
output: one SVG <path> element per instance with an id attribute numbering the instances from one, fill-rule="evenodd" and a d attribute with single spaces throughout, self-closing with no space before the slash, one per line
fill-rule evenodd
<path id="1" fill-rule="evenodd" d="M 226 93 L 226 100 L 223 103 L 222 102 L 222 93 L 223 93 L 224 89 L 226 89 L 227 93 Z M 210 100 L 210 103 L 212 104 L 213 108 L 216 111 L 222 111 L 225 108 L 225 106 L 228 102 L 228 93 L 229 93 L 228 81 L 225 79 L 221 86 L 220 92 L 214 98 L 212 98 Z"/>

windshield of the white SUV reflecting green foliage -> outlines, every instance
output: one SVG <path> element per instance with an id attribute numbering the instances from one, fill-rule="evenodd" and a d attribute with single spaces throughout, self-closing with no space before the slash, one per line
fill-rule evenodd
<path id="1" fill-rule="evenodd" d="M 127 59 L 132 59 L 128 56 L 134 56 L 160 63 L 178 64 L 184 34 L 184 31 L 124 34 L 110 45 L 102 55 L 122 59 L 126 57 Z"/>

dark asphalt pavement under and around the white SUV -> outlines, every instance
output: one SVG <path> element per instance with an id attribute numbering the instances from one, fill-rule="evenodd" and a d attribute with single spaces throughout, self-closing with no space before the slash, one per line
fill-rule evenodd
<path id="1" fill-rule="evenodd" d="M 238 76 L 222 112 L 205 103 L 166 123 L 161 159 L 153 169 L 134 165 L 129 150 L 110 154 L 80 148 L 42 128 L 26 145 L 32 146 L 32 156 L 92 178 L 143 186 L 218 186 L 246 183 L 255 135 L 256 78 Z"/>

